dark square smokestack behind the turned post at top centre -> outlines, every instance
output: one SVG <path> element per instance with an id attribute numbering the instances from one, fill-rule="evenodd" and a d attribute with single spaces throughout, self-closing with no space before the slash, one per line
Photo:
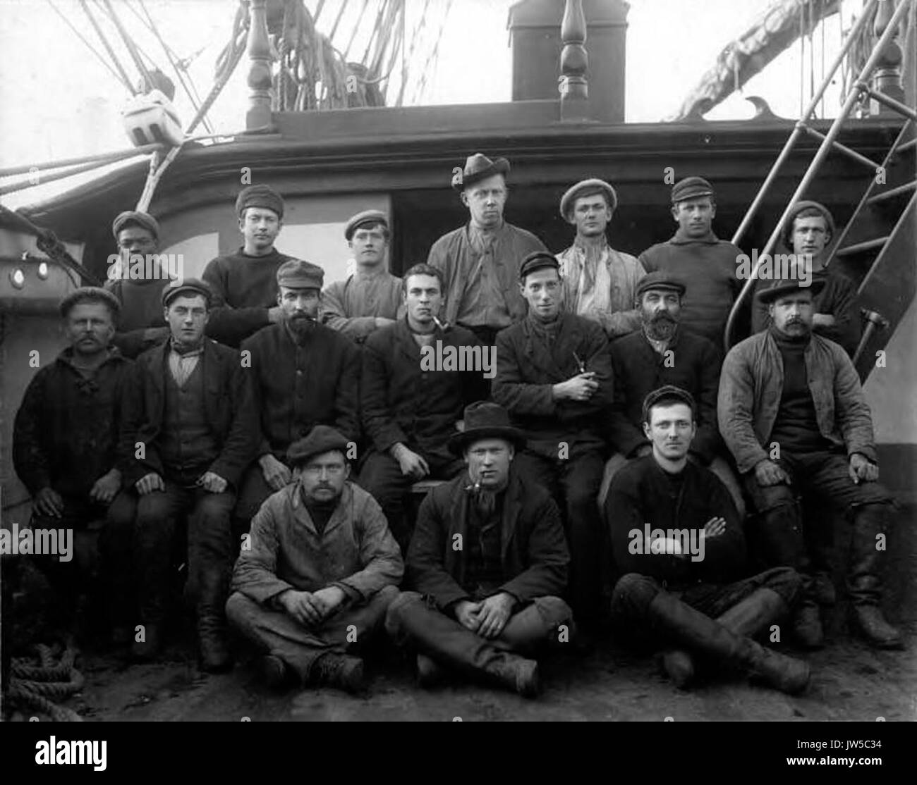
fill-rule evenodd
<path id="1" fill-rule="evenodd" d="M 560 23 L 565 0 L 522 0 L 510 8 L 513 100 L 558 100 Z M 624 58 L 627 12 L 623 0 L 582 0 L 589 52 L 591 117 L 624 123 Z"/>

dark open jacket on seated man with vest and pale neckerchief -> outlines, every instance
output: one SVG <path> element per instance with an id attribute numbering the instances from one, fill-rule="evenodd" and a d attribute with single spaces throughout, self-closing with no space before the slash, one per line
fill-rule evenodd
<path id="1" fill-rule="evenodd" d="M 158 449 L 166 411 L 166 374 L 169 369 L 170 342 L 148 349 L 137 358 L 126 404 L 127 424 L 122 449 L 126 456 L 122 470 L 126 486 L 134 485 L 150 472 L 163 473 Z M 206 420 L 221 445 L 220 453 L 207 471 L 219 474 L 238 487 L 239 478 L 255 458 L 258 413 L 248 369 L 242 367 L 238 351 L 215 341 L 204 341 L 204 354 L 198 363 L 204 375 Z M 144 457 L 137 457 L 137 443 L 144 446 Z"/>

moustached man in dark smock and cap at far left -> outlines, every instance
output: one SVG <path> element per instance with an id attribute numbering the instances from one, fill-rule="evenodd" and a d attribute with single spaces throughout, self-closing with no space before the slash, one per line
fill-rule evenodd
<path id="1" fill-rule="evenodd" d="M 105 616 L 112 637 L 125 643 L 133 625 L 127 562 L 134 502 L 121 492 L 118 451 L 134 364 L 111 345 L 119 310 L 111 292 L 75 289 L 60 310 L 68 345 L 28 383 L 13 423 L 13 465 L 32 499 L 33 530 L 82 531 L 106 521 L 99 540 Z M 79 595 L 90 588 L 83 565 L 72 553 L 37 561 L 58 598 L 51 624 L 72 630 Z"/>

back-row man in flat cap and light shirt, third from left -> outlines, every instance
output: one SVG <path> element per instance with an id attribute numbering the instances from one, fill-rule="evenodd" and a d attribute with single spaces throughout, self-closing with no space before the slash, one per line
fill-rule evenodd
<path id="1" fill-rule="evenodd" d="M 344 228 L 344 237 L 357 268 L 322 292 L 322 324 L 363 343 L 373 330 L 394 324 L 403 312 L 401 278 L 385 264 L 391 237 L 385 213 L 357 213 Z"/>

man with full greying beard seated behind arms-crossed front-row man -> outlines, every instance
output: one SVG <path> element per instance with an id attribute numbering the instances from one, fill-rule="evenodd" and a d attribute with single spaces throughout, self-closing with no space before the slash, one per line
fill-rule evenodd
<path id="1" fill-rule="evenodd" d="M 650 273 L 637 286 L 643 329 L 611 346 L 614 405 L 609 436 L 616 452 L 605 468 L 601 499 L 614 473 L 626 460 L 643 458 L 653 445 L 643 429 L 643 401 L 665 385 L 687 390 L 698 403 L 697 433 L 691 440 L 691 460 L 709 468 L 729 489 L 739 519 L 745 501 L 733 470 L 720 454 L 723 440 L 717 430 L 716 396 L 720 387 L 721 355 L 706 338 L 680 328 L 685 286 L 667 273 Z"/>

